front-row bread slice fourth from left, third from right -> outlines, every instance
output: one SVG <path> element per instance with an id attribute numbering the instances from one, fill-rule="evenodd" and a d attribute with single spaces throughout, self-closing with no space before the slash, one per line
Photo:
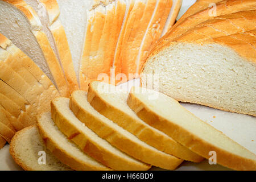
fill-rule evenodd
<path id="1" fill-rule="evenodd" d="M 71 107 L 76 117 L 82 123 L 85 123 L 85 126 L 93 130 L 102 139 L 107 140 L 126 154 L 152 166 L 175 169 L 183 162 L 175 156 L 156 150 L 156 148 L 142 142 L 133 134 L 105 118 L 93 109 L 86 98 L 85 91 L 77 90 L 73 92 L 69 107 Z"/>

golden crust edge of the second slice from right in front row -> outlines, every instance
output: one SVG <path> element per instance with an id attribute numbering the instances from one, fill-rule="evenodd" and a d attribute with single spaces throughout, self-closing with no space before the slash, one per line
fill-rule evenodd
<path id="1" fill-rule="evenodd" d="M 99 113 L 109 118 L 114 123 L 117 123 L 123 129 L 134 134 L 143 142 L 149 144 L 156 149 L 163 151 L 170 155 L 175 155 L 178 158 L 201 162 L 203 158 L 194 152 L 189 151 L 187 148 L 181 146 L 174 139 L 168 137 L 166 134 L 155 130 L 153 127 L 147 125 L 139 118 L 130 117 L 121 109 L 108 103 L 101 97 L 100 93 L 92 86 L 96 82 L 92 82 L 89 85 L 88 91 L 88 102 L 94 107 Z M 97 86 L 95 86 L 97 88 Z M 122 118 L 122 119 L 120 119 Z M 129 123 L 129 125 L 127 125 Z"/>

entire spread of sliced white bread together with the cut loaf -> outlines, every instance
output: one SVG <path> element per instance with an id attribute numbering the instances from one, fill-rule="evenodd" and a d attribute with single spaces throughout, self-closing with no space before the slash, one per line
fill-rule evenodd
<path id="1" fill-rule="evenodd" d="M 255 116 L 256 2 L 199 0 L 172 27 L 180 6 L 0 0 L 0 148 L 27 170 L 175 169 L 210 151 L 255 170 L 255 154 L 177 101 Z M 177 101 L 113 86 L 139 76 Z"/>

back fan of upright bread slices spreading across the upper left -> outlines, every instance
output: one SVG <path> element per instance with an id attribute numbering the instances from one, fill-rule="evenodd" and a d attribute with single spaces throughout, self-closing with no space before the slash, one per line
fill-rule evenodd
<path id="1" fill-rule="evenodd" d="M 110 70 L 135 73 L 180 7 L 180 0 L 1 0 L 0 148 L 53 98 L 87 91 L 102 75 L 110 82 Z M 135 56 L 130 63 L 127 55 Z"/>

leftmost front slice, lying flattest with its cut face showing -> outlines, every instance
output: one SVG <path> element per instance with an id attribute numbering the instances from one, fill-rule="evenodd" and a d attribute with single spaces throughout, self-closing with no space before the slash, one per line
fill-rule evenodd
<path id="1" fill-rule="evenodd" d="M 40 153 L 42 152 L 42 153 Z M 46 155 L 46 165 L 42 162 L 43 152 Z M 10 154 L 14 161 L 26 171 L 70 171 L 71 168 L 62 164 L 47 150 L 40 137 L 38 127 L 30 126 L 18 131 L 10 144 Z"/>

